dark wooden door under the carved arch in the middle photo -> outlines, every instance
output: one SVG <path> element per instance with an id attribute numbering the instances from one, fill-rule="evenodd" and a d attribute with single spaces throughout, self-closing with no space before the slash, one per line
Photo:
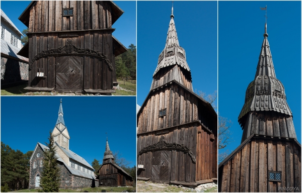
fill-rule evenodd
<path id="1" fill-rule="evenodd" d="M 155 151 L 152 157 L 152 180 L 169 181 L 171 173 L 171 151 Z"/>

